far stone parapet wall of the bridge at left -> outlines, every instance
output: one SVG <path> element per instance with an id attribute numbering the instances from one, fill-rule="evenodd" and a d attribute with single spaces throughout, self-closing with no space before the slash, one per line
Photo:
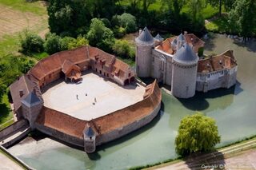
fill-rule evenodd
<path id="1" fill-rule="evenodd" d="M 27 125 L 26 120 L 16 121 L 14 124 L 2 129 L 0 131 L 0 141 L 4 140 L 6 136 L 10 135 L 12 132 L 16 131 L 18 128 L 22 128 L 22 126 Z"/>

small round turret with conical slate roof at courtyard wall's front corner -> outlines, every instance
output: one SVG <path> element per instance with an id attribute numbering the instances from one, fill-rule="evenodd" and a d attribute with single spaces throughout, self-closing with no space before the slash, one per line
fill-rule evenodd
<path id="1" fill-rule="evenodd" d="M 91 153 L 96 149 L 95 139 L 96 135 L 93 128 L 86 128 L 83 134 L 85 152 Z"/>

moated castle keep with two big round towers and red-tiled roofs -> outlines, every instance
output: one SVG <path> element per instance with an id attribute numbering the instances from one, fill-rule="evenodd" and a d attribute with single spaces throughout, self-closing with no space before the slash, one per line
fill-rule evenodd
<path id="1" fill-rule="evenodd" d="M 233 51 L 213 57 L 202 56 L 205 42 L 194 34 L 163 38 L 152 37 L 145 27 L 136 42 L 136 73 L 138 77 L 154 77 L 171 86 L 175 97 L 193 97 L 195 91 L 230 88 L 235 85 L 238 65 Z"/>

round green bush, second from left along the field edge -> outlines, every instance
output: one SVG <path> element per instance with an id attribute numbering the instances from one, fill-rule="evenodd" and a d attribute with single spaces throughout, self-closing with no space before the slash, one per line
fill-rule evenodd
<path id="1" fill-rule="evenodd" d="M 62 39 L 56 34 L 47 34 L 44 47 L 49 54 L 57 53 L 62 50 Z"/>

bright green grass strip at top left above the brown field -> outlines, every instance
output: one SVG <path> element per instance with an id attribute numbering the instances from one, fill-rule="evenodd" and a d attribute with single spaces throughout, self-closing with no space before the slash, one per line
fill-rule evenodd
<path id="1" fill-rule="evenodd" d="M 45 15 L 46 7 L 43 6 L 43 2 L 26 2 L 26 0 L 1 0 L 0 4 L 10 6 L 14 10 L 20 10 L 22 12 L 30 12 L 38 15 Z"/>

